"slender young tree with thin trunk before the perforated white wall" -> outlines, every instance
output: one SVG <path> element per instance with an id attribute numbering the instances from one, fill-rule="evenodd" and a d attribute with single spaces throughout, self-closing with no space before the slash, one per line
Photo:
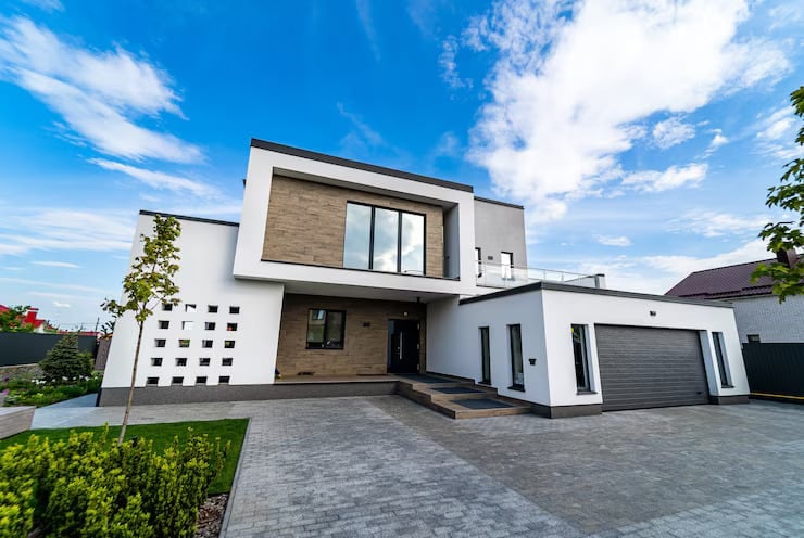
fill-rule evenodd
<path id="1" fill-rule="evenodd" d="M 112 315 L 116 321 L 126 312 L 131 312 L 139 333 L 137 334 L 137 346 L 134 350 L 134 366 L 131 368 L 131 386 L 128 389 L 126 412 L 123 415 L 123 427 L 117 438 L 117 445 L 123 443 L 123 437 L 128 425 L 128 415 L 131 412 L 134 401 L 134 384 L 137 379 L 137 363 L 139 362 L 139 350 L 142 343 L 142 329 L 146 320 L 153 313 L 153 308 L 163 303 L 177 305 L 176 297 L 178 286 L 174 284 L 173 277 L 178 271 L 177 261 L 180 259 L 174 242 L 181 234 L 181 226 L 173 217 L 156 215 L 153 218 L 153 235 L 141 235 L 142 254 L 134 259 L 131 270 L 123 279 L 123 300 L 104 300 L 101 307 Z"/>

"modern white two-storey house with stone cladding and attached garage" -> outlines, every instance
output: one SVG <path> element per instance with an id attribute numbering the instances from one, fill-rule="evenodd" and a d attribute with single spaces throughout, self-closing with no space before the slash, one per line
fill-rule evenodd
<path id="1" fill-rule="evenodd" d="M 528 268 L 523 207 L 467 184 L 252 140 L 240 222 L 177 218 L 181 303 L 146 323 L 139 402 L 370 394 L 372 376 L 425 372 L 549 417 L 746 401 L 730 305 Z M 136 337 L 121 319 L 101 405 L 124 401 Z"/>

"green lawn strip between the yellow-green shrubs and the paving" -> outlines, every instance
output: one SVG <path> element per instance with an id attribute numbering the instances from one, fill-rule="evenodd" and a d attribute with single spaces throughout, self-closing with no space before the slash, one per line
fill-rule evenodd
<path id="1" fill-rule="evenodd" d="M 224 464 L 221 474 L 210 485 L 210 495 L 225 494 L 231 489 L 231 483 L 235 479 L 235 471 L 237 470 L 237 460 L 240 458 L 240 449 L 243 445 L 243 437 L 246 436 L 246 426 L 248 425 L 248 419 L 227 419 L 218 421 L 202 421 L 202 422 L 173 422 L 163 424 L 135 424 L 129 425 L 126 428 L 126 438 L 139 437 L 141 439 L 149 439 L 153 441 L 153 448 L 156 451 L 162 451 L 165 447 L 173 443 L 173 438 L 178 435 L 179 440 L 187 436 L 187 428 L 191 427 L 192 432 L 198 435 L 208 434 L 210 439 L 221 437 L 222 443 L 231 441 L 231 448 L 229 453 L 226 456 L 226 463 Z M 14 435 L 7 439 L 0 440 L 0 450 L 3 450 L 10 445 L 25 444 L 30 435 L 38 435 L 40 437 L 48 437 L 51 441 L 58 441 L 60 439 L 66 439 L 70 436 L 70 432 L 96 432 L 100 435 L 103 432 L 103 426 L 98 427 L 71 427 L 71 428 L 58 428 L 58 430 L 32 430 L 30 432 L 23 432 Z M 120 435 L 120 426 L 109 426 L 109 438 L 110 440 L 116 440 Z"/>

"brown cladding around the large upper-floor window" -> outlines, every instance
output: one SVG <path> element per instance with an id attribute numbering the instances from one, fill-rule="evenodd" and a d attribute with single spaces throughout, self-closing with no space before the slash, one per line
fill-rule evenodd
<path id="1" fill-rule="evenodd" d="M 274 176 L 262 259 L 343 267 L 347 202 L 425 215 L 425 274 L 443 277 L 443 209 L 370 192 Z"/>

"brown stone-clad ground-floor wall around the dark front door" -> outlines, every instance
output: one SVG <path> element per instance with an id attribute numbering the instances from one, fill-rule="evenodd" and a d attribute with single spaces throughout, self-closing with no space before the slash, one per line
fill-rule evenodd
<path id="1" fill-rule="evenodd" d="M 346 310 L 343 349 L 306 349 L 311 308 Z M 407 319 L 420 321 L 419 364 L 424 372 L 426 315 L 424 303 L 286 294 L 276 367 L 286 377 L 299 372 L 314 372 L 316 376 L 387 373 L 388 320 Z"/>

